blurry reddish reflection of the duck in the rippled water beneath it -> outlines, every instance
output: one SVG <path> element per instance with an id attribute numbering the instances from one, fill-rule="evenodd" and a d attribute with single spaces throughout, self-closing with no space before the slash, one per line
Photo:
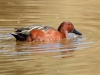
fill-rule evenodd
<path id="1" fill-rule="evenodd" d="M 44 54 L 54 57 L 72 57 L 75 46 L 72 41 L 54 42 L 16 42 L 16 54 Z"/>

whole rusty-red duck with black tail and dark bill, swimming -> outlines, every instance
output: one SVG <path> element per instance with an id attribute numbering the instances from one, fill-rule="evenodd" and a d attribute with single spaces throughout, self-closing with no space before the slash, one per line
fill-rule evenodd
<path id="1" fill-rule="evenodd" d="M 15 37 L 16 41 L 58 41 L 66 38 L 68 33 L 82 36 L 70 21 L 62 22 L 58 29 L 38 24 L 14 29 L 15 30 L 11 35 Z"/>

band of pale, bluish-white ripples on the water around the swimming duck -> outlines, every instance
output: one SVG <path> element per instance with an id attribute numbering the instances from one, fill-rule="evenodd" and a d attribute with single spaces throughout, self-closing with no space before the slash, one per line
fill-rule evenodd
<path id="1" fill-rule="evenodd" d="M 5 30 L 12 31 L 12 28 L 0 28 L 0 31 Z M 13 36 L 9 33 L 0 34 L 0 53 L 8 53 L 8 56 L 16 55 L 29 55 L 29 54 L 41 54 L 41 53 L 62 53 L 75 50 L 83 50 L 85 48 L 90 48 L 90 44 L 93 42 L 86 42 L 86 38 L 77 37 L 69 39 L 68 41 L 54 42 L 54 43 L 22 43 L 16 42 L 13 39 Z M 10 52 L 10 50 L 13 52 Z M 10 52 L 10 53 L 9 53 Z M 57 57 L 67 56 L 66 53 L 63 55 L 57 55 Z"/>

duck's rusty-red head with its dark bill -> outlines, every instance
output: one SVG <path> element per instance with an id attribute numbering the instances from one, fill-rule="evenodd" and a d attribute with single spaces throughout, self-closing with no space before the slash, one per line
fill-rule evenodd
<path id="1" fill-rule="evenodd" d="M 77 35 L 82 35 L 80 32 L 78 32 L 73 24 L 69 21 L 66 21 L 66 22 L 62 22 L 60 24 L 60 26 L 58 27 L 58 31 L 63 33 L 63 34 L 66 34 L 66 33 L 75 33 Z"/>

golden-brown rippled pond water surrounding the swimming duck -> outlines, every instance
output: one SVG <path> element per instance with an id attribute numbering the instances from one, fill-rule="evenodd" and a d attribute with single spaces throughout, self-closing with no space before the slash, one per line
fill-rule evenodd
<path id="1" fill-rule="evenodd" d="M 99 0 L 1 0 L 0 75 L 100 75 Z M 83 38 L 16 42 L 15 27 L 71 21 Z"/>

